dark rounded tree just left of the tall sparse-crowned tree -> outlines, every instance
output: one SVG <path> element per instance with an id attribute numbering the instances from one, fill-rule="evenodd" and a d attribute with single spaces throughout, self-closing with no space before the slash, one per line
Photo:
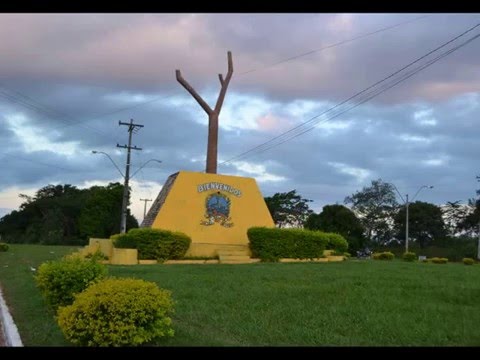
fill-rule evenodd
<path id="1" fill-rule="evenodd" d="M 342 235 L 348 242 L 349 252 L 355 253 L 364 246 L 365 228 L 355 213 L 343 205 L 326 205 L 319 214 L 311 214 L 305 222 L 309 230 L 321 230 Z"/>

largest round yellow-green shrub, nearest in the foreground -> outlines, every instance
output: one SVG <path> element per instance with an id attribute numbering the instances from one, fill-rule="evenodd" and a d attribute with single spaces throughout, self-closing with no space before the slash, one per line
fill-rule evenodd
<path id="1" fill-rule="evenodd" d="M 170 292 L 140 279 L 105 279 L 58 310 L 67 340 L 81 346 L 131 346 L 173 336 Z"/>

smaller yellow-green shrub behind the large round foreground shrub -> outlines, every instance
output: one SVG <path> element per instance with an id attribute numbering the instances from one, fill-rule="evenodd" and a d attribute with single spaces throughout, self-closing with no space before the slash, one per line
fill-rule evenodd
<path id="1" fill-rule="evenodd" d="M 106 274 L 105 265 L 99 264 L 95 259 L 70 255 L 40 265 L 35 280 L 48 305 L 56 310 L 61 305 L 71 304 L 75 294 Z"/>

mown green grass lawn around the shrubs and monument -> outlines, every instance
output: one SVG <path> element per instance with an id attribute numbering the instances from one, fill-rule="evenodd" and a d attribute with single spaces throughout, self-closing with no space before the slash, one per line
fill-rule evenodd
<path id="1" fill-rule="evenodd" d="M 30 266 L 73 249 L 12 245 L 0 253 L 0 283 L 25 345 L 67 345 Z M 172 291 L 175 337 L 159 345 L 480 346 L 479 265 L 349 260 L 109 273 Z"/>

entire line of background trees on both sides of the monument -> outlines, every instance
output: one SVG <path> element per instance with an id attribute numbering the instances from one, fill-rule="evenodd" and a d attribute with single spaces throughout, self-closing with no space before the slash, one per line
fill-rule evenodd
<path id="1" fill-rule="evenodd" d="M 409 239 L 424 248 L 452 246 L 452 241 L 478 234 L 478 199 L 443 207 L 415 201 L 409 205 Z M 108 238 L 120 232 L 123 185 L 47 185 L 34 196 L 20 194 L 19 210 L 0 219 L 0 241 L 10 243 L 85 244 L 90 237 Z M 320 213 L 310 209 L 312 200 L 296 190 L 265 197 L 277 227 L 297 227 L 336 232 L 349 242 L 352 253 L 371 245 L 404 245 L 405 206 L 396 200 L 394 188 L 381 179 L 347 196 L 344 204 L 330 204 Z M 138 227 L 128 212 L 127 230 Z"/>

